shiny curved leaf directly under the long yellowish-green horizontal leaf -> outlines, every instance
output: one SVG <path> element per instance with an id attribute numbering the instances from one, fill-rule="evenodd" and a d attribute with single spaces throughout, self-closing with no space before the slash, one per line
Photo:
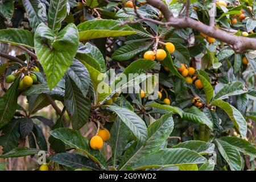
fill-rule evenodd
<path id="1" fill-rule="evenodd" d="M 76 57 L 79 60 L 84 60 L 87 64 L 96 68 L 101 73 L 106 72 L 105 60 L 100 49 L 89 42 L 77 50 Z"/>

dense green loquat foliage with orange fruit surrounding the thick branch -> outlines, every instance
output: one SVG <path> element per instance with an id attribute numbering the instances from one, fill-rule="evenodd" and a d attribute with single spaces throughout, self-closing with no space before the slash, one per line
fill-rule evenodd
<path id="1" fill-rule="evenodd" d="M 209 24 L 211 1 L 163 2 Z M 253 39 L 254 7 L 218 1 L 214 24 Z M 45 151 L 42 171 L 254 170 L 255 51 L 158 22 L 144 0 L 0 1 L 0 158 Z M 49 105 L 56 117 L 40 114 Z"/>

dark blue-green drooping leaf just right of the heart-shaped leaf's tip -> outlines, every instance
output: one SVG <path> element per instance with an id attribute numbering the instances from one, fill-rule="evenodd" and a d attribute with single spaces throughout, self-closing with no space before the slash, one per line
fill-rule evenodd
<path id="1" fill-rule="evenodd" d="M 90 86 L 90 75 L 87 68 L 80 61 L 74 60 L 71 67 L 68 68 L 68 75 L 86 97 Z"/>

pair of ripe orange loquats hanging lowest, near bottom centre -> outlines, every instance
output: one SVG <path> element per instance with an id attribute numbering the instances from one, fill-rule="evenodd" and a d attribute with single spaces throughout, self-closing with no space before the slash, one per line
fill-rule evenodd
<path id="1" fill-rule="evenodd" d="M 110 138 L 108 129 L 100 129 L 98 133 L 90 139 L 90 147 L 94 150 L 101 150 L 103 142 L 107 142 Z"/>

